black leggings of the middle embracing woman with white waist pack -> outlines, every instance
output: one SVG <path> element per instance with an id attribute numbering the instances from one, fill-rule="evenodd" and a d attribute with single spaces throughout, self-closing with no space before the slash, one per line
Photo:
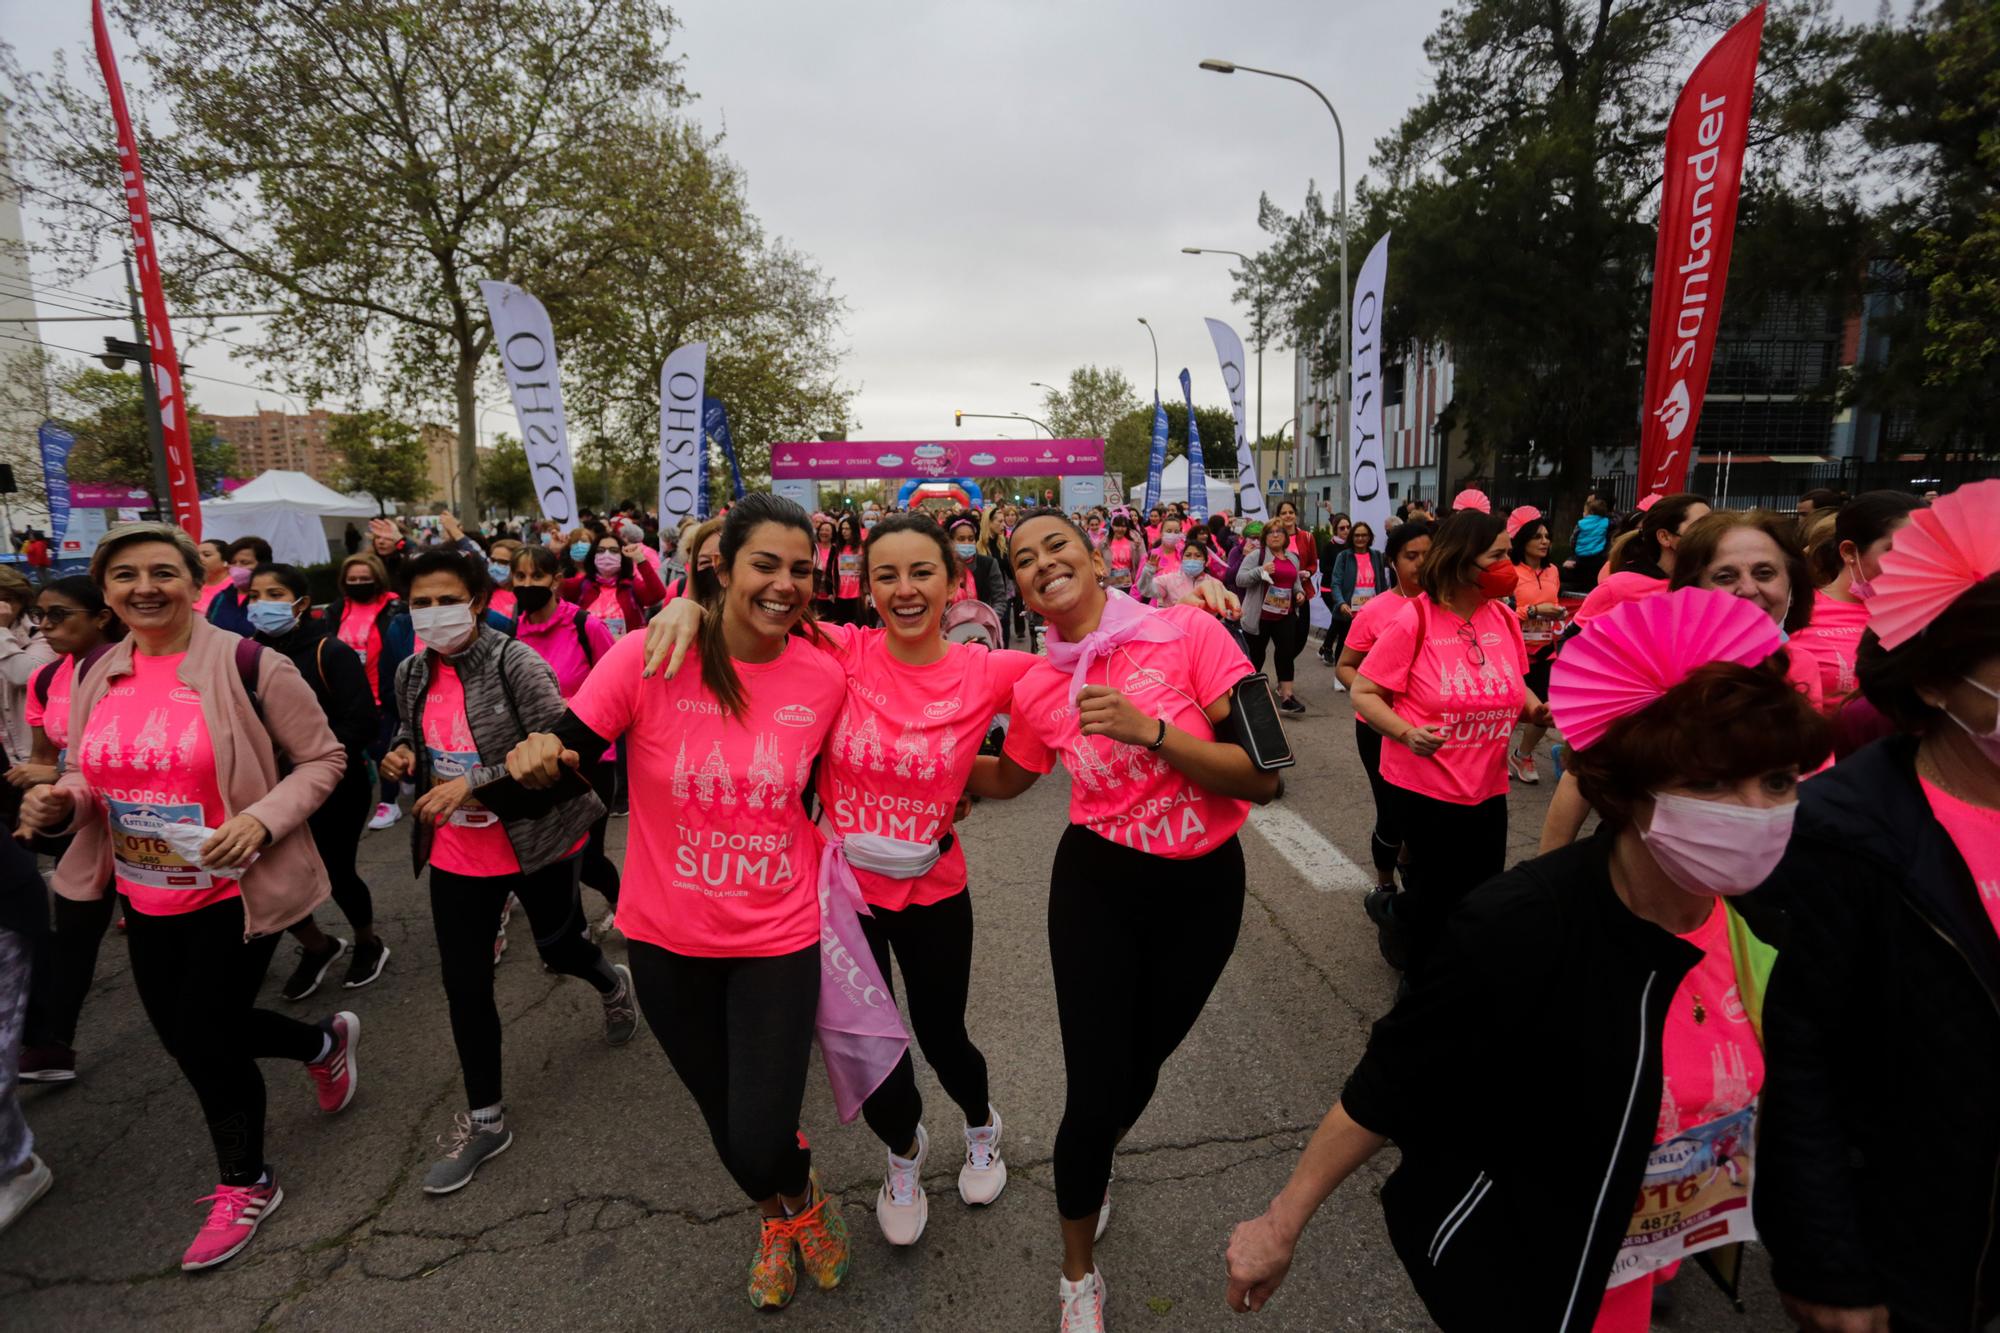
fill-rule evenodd
<path id="1" fill-rule="evenodd" d="M 900 913 L 870 909 L 862 917 L 868 951 L 882 969 L 882 985 L 896 995 L 896 979 L 888 967 L 890 947 L 902 969 L 902 987 L 910 997 L 910 1029 L 924 1059 L 944 1085 L 944 1095 L 958 1103 L 966 1125 L 984 1125 L 988 1115 L 986 1057 L 966 1033 L 966 993 L 972 989 L 972 895 L 954 893 L 942 903 L 906 907 Z M 916 1091 L 916 1067 L 904 1051 L 888 1079 L 862 1103 L 868 1129 L 892 1153 L 902 1153 L 916 1139 L 924 1119 L 924 1099 Z"/>

